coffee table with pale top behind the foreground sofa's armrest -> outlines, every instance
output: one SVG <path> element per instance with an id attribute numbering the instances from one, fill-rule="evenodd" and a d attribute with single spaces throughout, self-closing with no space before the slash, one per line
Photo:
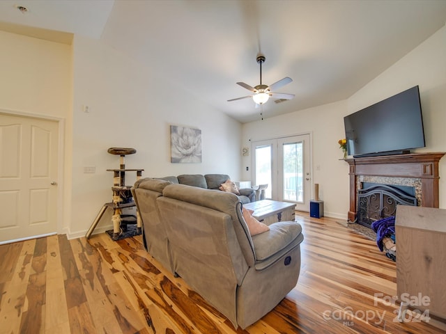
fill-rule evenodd
<path id="1" fill-rule="evenodd" d="M 294 221 L 295 204 L 290 202 L 279 202 L 277 200 L 258 200 L 243 205 L 254 211 L 254 218 L 266 225 L 277 221 Z"/>

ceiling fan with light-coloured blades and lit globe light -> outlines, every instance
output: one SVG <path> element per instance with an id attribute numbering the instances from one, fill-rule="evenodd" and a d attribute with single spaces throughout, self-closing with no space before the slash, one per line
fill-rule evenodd
<path id="1" fill-rule="evenodd" d="M 262 84 L 262 64 L 265 63 L 265 56 L 263 54 L 259 54 L 256 58 L 257 63 L 260 65 L 260 84 L 251 87 L 248 84 L 245 84 L 244 82 L 238 82 L 237 84 L 242 86 L 243 88 L 246 88 L 247 90 L 251 90 L 253 95 L 247 95 L 243 97 L 237 97 L 236 99 L 228 100 L 228 102 L 236 101 L 236 100 L 243 100 L 247 99 L 248 97 L 252 97 L 252 100 L 256 102 L 256 104 L 259 104 L 260 106 L 262 104 L 265 104 L 270 97 L 276 98 L 276 99 L 283 99 L 283 100 L 291 100 L 294 97 L 294 94 L 286 94 L 286 93 L 273 93 L 273 90 L 276 88 L 282 87 L 286 84 L 289 84 L 293 79 L 289 77 L 284 77 L 284 79 L 280 79 L 279 81 L 276 81 L 274 84 L 270 86 L 266 86 Z"/>

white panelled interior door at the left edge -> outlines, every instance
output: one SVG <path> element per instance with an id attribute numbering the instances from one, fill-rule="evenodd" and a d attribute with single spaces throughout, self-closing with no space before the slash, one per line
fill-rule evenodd
<path id="1" fill-rule="evenodd" d="M 0 113 L 0 242 L 57 230 L 59 123 Z"/>

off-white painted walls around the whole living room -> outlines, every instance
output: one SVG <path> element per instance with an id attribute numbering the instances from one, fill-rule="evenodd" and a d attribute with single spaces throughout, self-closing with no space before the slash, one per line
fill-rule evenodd
<path id="1" fill-rule="evenodd" d="M 118 157 L 107 153 L 112 146 L 136 148 L 137 154 L 126 159 L 127 167 L 144 168 L 144 176 L 227 173 L 234 180 L 251 180 L 245 171 L 251 156 L 240 157 L 249 138 L 311 132 L 312 182 L 320 184 L 325 215 L 340 218 L 348 211 L 348 165 L 339 160 L 337 141 L 344 138 L 343 117 L 348 113 L 419 85 L 423 151 L 446 151 L 445 27 L 348 100 L 245 124 L 243 134 L 240 123 L 97 40 L 76 36 L 71 47 L 0 31 L 0 45 L 0 109 L 65 120 L 63 225 L 70 237 L 83 235 L 111 198 L 112 175 L 106 169 L 118 167 Z M 82 105 L 89 105 L 91 112 L 83 113 Z M 201 164 L 170 163 L 169 125 L 201 129 Z M 443 208 L 445 159 L 440 161 Z M 96 173 L 84 174 L 84 166 L 95 166 Z M 128 177 L 128 184 L 132 181 Z"/>

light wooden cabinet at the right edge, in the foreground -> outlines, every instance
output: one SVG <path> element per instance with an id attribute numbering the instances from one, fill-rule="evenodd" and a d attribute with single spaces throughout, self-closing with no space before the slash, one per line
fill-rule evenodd
<path id="1" fill-rule="evenodd" d="M 446 319 L 446 209 L 399 205 L 395 237 L 401 305 Z"/>

